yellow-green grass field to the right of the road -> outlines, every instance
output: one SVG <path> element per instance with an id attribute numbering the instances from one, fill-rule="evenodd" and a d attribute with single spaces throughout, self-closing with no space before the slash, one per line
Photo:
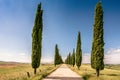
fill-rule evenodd
<path id="1" fill-rule="evenodd" d="M 105 66 L 104 70 L 100 71 L 99 78 L 96 78 L 96 72 L 91 68 L 90 64 L 83 64 L 78 68 L 68 65 L 73 71 L 77 72 L 84 80 L 120 80 L 120 65 Z"/>

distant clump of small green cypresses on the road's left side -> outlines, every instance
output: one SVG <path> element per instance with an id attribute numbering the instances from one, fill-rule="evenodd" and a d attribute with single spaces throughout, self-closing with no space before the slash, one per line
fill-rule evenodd
<path id="1" fill-rule="evenodd" d="M 54 65 L 63 63 L 62 57 L 59 53 L 58 45 L 55 45 L 55 56 L 54 56 Z"/>

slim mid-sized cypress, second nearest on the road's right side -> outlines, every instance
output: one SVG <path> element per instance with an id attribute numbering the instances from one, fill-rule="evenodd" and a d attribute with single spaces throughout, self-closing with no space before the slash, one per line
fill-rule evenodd
<path id="1" fill-rule="evenodd" d="M 81 38 L 80 38 L 80 32 L 78 32 L 77 48 L 76 48 L 76 65 L 78 69 L 81 66 L 81 62 L 82 62 Z"/>

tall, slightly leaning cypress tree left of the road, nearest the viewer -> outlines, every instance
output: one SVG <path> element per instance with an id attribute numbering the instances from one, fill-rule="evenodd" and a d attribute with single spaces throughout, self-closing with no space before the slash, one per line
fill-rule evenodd
<path id="1" fill-rule="evenodd" d="M 43 10 L 41 10 L 41 3 L 38 4 L 34 27 L 32 30 L 32 68 L 34 68 L 34 74 L 36 69 L 40 66 L 41 52 L 42 52 L 42 22 Z"/>

